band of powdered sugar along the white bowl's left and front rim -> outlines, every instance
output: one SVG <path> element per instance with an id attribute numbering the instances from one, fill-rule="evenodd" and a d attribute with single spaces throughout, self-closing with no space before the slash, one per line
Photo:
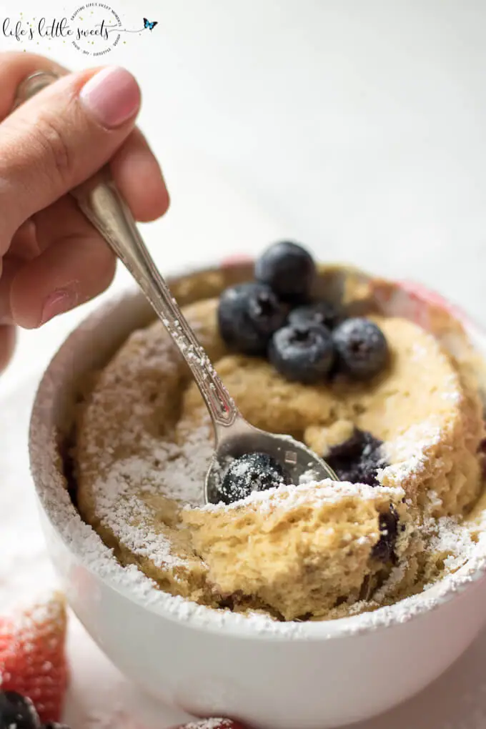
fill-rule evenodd
<path id="1" fill-rule="evenodd" d="M 80 340 L 80 351 L 84 343 Z M 66 392 L 60 389 L 60 383 L 65 380 L 66 370 L 73 366 L 73 357 L 77 356 L 76 347 L 71 342 L 52 365 L 50 374 L 44 379 L 42 385 L 42 400 L 49 403 L 47 414 L 52 413 L 52 403 L 66 398 Z M 430 437 L 430 432 L 429 432 Z M 143 604 L 147 609 L 160 612 L 162 615 L 173 615 L 177 620 L 190 620 L 192 624 L 219 626 L 219 628 L 235 628 L 241 631 L 256 631 L 268 636 L 285 635 L 289 639 L 294 637 L 311 638 L 314 635 L 332 636 L 339 634 L 359 634 L 384 625 L 396 622 L 405 622 L 421 612 L 433 609 L 441 604 L 442 600 L 463 588 L 472 580 L 478 579 L 485 569 L 485 545 L 477 545 L 469 562 L 464 565 L 451 578 L 434 585 L 419 596 L 401 601 L 391 607 L 383 607 L 377 612 L 363 613 L 337 620 L 334 623 L 279 623 L 269 616 L 261 614 L 241 615 L 224 610 L 206 608 L 187 600 L 173 597 L 158 590 L 154 583 L 135 566 L 123 568 L 113 553 L 98 537 L 97 534 L 82 523 L 79 515 L 72 506 L 68 494 L 63 489 L 63 483 L 58 472 L 58 434 L 51 423 L 46 426 L 46 413 L 40 405 L 34 411 L 32 426 L 32 450 L 36 482 L 42 496 L 44 509 L 55 523 L 58 531 L 68 549 L 73 551 L 85 564 L 90 572 L 98 574 L 103 580 L 116 585 L 119 591 L 127 594 L 129 599 Z M 429 441 L 430 442 L 430 441 Z M 406 443 L 402 441 L 404 449 Z M 420 453 L 414 456 L 420 467 Z M 383 469 L 383 472 L 386 469 Z M 396 477 L 399 477 L 399 473 Z M 393 485 L 398 485 L 396 480 Z"/>

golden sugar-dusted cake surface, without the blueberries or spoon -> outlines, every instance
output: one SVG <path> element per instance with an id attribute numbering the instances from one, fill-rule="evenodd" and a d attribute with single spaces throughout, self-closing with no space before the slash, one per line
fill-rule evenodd
<path id="1" fill-rule="evenodd" d="M 157 322 L 95 375 L 77 416 L 79 510 L 119 561 L 174 595 L 284 620 L 375 609 L 457 569 L 454 544 L 474 538 L 465 518 L 482 488 L 469 370 L 418 324 L 374 313 L 391 355 L 383 373 L 290 382 L 264 359 L 227 351 L 216 307 L 202 297 L 184 313 L 243 416 L 323 456 L 355 426 L 372 433 L 383 441 L 380 486 L 326 480 L 204 507 L 211 423 Z M 383 556 L 390 513 L 398 534 Z"/>

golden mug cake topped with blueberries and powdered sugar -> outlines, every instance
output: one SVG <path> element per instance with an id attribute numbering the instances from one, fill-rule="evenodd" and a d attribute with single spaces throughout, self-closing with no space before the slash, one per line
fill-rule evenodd
<path id="1" fill-rule="evenodd" d="M 482 362 L 455 313 L 404 316 L 396 285 L 270 246 L 253 277 L 192 277 L 184 316 L 243 417 L 322 456 L 289 483 L 248 453 L 205 504 L 213 430 L 162 323 L 85 381 L 75 501 L 122 566 L 215 610 L 276 621 L 369 612 L 466 563 L 482 538 Z M 178 295 L 178 292 L 176 292 Z"/>

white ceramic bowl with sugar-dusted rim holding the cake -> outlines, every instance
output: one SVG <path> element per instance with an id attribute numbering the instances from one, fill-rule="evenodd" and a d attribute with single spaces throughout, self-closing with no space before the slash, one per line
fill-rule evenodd
<path id="1" fill-rule="evenodd" d="M 138 294 L 90 316 L 52 360 L 34 405 L 30 453 L 42 525 L 87 631 L 151 695 L 198 716 L 234 717 L 260 729 L 337 727 L 423 689 L 486 622 L 482 547 L 453 577 L 393 607 L 329 623 L 273 623 L 154 590 L 136 568 L 119 566 L 82 523 L 63 472 L 79 381 L 151 318 Z M 474 327 L 470 334 L 486 351 Z"/>

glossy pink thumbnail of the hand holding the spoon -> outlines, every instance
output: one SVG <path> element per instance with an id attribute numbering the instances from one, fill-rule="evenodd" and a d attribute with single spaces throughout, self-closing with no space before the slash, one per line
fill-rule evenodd
<path id="1" fill-rule="evenodd" d="M 91 77 L 79 92 L 79 99 L 98 124 L 112 129 L 133 117 L 140 106 L 140 89 L 132 74 L 118 66 L 103 69 Z"/>

